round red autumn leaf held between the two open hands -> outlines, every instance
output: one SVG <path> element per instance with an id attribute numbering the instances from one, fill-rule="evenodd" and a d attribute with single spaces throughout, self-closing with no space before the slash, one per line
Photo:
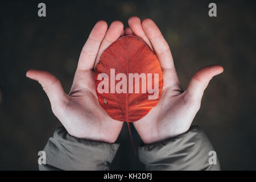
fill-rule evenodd
<path id="1" fill-rule="evenodd" d="M 115 87 L 115 93 L 110 93 L 110 82 L 112 81 L 110 78 L 110 69 L 115 69 L 115 76 L 117 76 L 118 73 L 124 73 L 126 75 L 127 89 L 123 86 L 120 87 L 126 90 L 126 93 L 117 93 Z M 160 68 L 158 58 L 154 52 L 137 36 L 123 36 L 110 45 L 102 53 L 100 62 L 96 65 L 96 73 L 95 84 L 98 101 L 113 119 L 134 122 L 144 117 L 152 107 L 158 104 L 163 89 L 162 69 Z M 108 77 L 104 76 L 101 78 L 103 81 L 108 82 L 109 93 L 100 93 L 98 90 L 98 86 L 101 86 L 102 89 L 107 88 L 107 86 L 105 88 L 105 86 L 100 84 L 102 80 L 98 80 L 98 76 L 100 76 L 101 73 L 108 75 Z M 152 73 L 152 89 L 155 90 L 155 93 L 148 93 L 148 89 L 146 93 L 142 93 L 142 86 L 146 86 L 147 88 L 147 84 L 142 84 L 142 78 L 139 78 L 139 85 L 135 85 L 135 79 L 133 80 L 134 90 L 133 93 L 130 93 L 129 73 L 138 73 L 139 75 L 145 73 L 147 80 L 149 79 L 148 75 L 150 75 L 148 73 Z M 154 88 L 154 73 L 158 73 L 159 76 L 158 88 Z M 118 82 L 123 79 L 124 78 L 115 80 L 114 86 L 117 86 Z M 135 88 L 138 89 L 138 86 L 139 93 L 134 93 Z M 149 100 L 148 96 L 152 96 L 153 94 L 155 94 L 156 99 Z"/>

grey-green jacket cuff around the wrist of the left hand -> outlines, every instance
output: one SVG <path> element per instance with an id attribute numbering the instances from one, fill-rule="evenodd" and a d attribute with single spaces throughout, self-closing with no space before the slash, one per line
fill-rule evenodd
<path id="1" fill-rule="evenodd" d="M 46 166 L 62 170 L 109 170 L 119 144 L 72 137 L 64 127 L 55 130 L 44 151 Z M 40 167 L 41 166 L 41 167 Z M 47 167 L 39 165 L 39 169 Z"/>

